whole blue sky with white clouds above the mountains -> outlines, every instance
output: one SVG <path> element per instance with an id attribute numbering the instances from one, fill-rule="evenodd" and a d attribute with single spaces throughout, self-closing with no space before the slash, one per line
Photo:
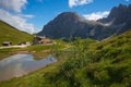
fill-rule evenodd
<path id="1" fill-rule="evenodd" d="M 109 14 L 112 7 L 130 0 L 0 0 L 0 20 L 27 33 L 36 33 L 62 12 L 78 12 L 87 20 Z"/>

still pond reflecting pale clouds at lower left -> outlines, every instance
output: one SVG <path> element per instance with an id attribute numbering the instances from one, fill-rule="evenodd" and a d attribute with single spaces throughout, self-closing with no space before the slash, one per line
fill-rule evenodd
<path id="1" fill-rule="evenodd" d="M 34 60 L 32 54 L 14 54 L 0 61 L 0 80 L 23 76 L 57 60 L 49 55 L 43 60 Z"/>

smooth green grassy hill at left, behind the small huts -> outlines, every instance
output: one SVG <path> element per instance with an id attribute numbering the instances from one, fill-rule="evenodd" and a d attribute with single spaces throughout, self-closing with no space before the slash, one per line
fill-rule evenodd
<path id="1" fill-rule="evenodd" d="M 13 45 L 16 45 L 22 41 L 32 41 L 32 35 L 17 30 L 9 24 L 0 21 L 0 46 L 3 41 L 11 41 Z"/>

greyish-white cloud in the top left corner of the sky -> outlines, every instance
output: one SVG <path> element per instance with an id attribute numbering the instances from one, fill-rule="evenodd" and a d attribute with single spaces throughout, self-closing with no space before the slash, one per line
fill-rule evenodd
<path id="1" fill-rule="evenodd" d="M 7 10 L 21 12 L 27 3 L 27 0 L 0 0 L 0 7 Z"/>

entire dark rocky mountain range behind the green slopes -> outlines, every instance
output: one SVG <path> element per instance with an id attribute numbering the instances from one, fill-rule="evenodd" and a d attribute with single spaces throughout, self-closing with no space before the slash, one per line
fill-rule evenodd
<path id="1" fill-rule="evenodd" d="M 131 4 L 119 4 L 111 9 L 106 18 L 87 21 L 75 12 L 64 12 L 44 26 L 37 35 L 48 38 L 105 39 L 131 28 Z"/>

